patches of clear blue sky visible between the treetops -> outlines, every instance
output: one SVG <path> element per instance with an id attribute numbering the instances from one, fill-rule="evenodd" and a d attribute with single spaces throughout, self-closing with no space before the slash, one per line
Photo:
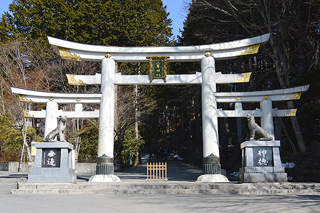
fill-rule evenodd
<path id="1" fill-rule="evenodd" d="M 183 21 L 186 17 L 186 14 L 183 10 L 183 2 L 188 0 L 162 0 L 163 4 L 166 5 L 167 11 L 170 13 L 169 18 L 172 19 L 172 33 L 176 35 L 181 35 L 179 29 L 183 29 Z M 12 3 L 12 0 L 1 0 L 0 3 L 0 13 L 2 14 L 5 11 L 8 11 L 9 4 Z"/>

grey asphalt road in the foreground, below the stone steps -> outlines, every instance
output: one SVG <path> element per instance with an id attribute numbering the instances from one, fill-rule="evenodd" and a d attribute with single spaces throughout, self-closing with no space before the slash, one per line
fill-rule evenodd
<path id="1" fill-rule="evenodd" d="M 0 195 L 1 213 L 314 213 L 320 196 Z"/>

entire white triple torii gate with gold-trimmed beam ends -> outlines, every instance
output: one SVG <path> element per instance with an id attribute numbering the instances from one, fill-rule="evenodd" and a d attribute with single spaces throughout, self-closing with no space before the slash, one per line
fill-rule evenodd
<path id="1" fill-rule="evenodd" d="M 19 94 L 23 102 L 46 103 L 45 118 L 55 120 L 61 113 L 67 117 L 77 117 L 74 112 L 60 112 L 57 103 L 75 103 L 75 111 L 81 111 L 79 103 L 100 103 L 100 110 L 82 112 L 79 117 L 97 117 L 99 114 L 99 139 L 97 172 L 89 181 L 109 182 L 120 181 L 113 175 L 113 127 L 114 127 L 114 85 L 125 84 L 201 84 L 202 93 L 202 135 L 203 135 L 203 172 L 198 180 L 205 182 L 223 182 L 226 177 L 221 175 L 218 150 L 217 117 L 243 117 L 247 113 L 261 116 L 261 125 L 273 136 L 272 116 L 294 116 L 295 110 L 272 109 L 272 100 L 294 100 L 308 86 L 283 90 L 218 93 L 216 84 L 248 82 L 251 73 L 221 74 L 215 72 L 215 59 L 232 59 L 241 55 L 255 54 L 260 45 L 267 42 L 270 34 L 257 37 L 197 46 L 176 47 L 114 47 L 80 44 L 57 38 L 48 37 L 49 43 L 57 49 L 63 59 L 102 61 L 101 74 L 94 76 L 67 75 L 69 84 L 94 85 L 100 84 L 101 94 L 61 94 L 41 91 L 22 91 L 12 88 Z M 201 61 L 201 73 L 189 75 L 167 75 L 163 79 L 153 79 L 148 75 L 121 75 L 115 73 L 115 62 L 148 62 L 150 56 L 166 56 L 166 60 Z M 49 101 L 48 101 L 49 100 Z M 54 101 L 53 101 L 54 100 Z M 235 101 L 236 100 L 236 101 Z M 235 110 L 217 109 L 217 102 L 234 102 Z M 242 110 L 241 102 L 260 102 L 261 109 Z M 61 115 L 62 115 L 61 114 Z M 25 116 L 43 117 L 43 111 L 27 111 Z M 56 122 L 53 122 L 56 123 Z M 46 133 L 52 127 L 46 126 Z"/>

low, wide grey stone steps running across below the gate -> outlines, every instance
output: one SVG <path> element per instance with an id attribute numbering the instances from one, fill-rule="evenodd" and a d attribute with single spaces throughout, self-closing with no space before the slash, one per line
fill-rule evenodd
<path id="1" fill-rule="evenodd" d="M 143 182 L 143 183 L 77 183 L 31 184 L 18 183 L 14 195 L 57 194 L 150 194 L 150 195 L 320 195 L 319 183 L 196 183 L 196 182 Z"/>

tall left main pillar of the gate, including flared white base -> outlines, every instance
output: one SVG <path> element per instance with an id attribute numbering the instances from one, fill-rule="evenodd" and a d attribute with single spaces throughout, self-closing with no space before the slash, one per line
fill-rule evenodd
<path id="1" fill-rule="evenodd" d="M 101 66 L 101 102 L 99 115 L 98 161 L 96 175 L 89 182 L 119 182 L 114 175 L 113 128 L 114 128 L 114 75 L 115 61 L 103 58 Z"/>

